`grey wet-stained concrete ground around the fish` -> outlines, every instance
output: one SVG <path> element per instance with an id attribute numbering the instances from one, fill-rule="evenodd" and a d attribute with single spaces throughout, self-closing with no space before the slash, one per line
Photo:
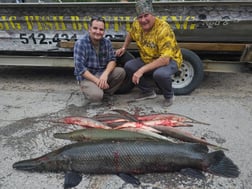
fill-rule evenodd
<path id="1" fill-rule="evenodd" d="M 53 138 L 55 132 L 77 129 L 57 123 L 64 116 L 93 116 L 123 109 L 134 113 L 178 113 L 210 125 L 180 128 L 229 149 L 225 154 L 239 167 L 238 178 L 213 176 L 194 179 L 180 173 L 136 175 L 139 187 L 114 175 L 84 175 L 76 188 L 93 189 L 247 189 L 252 188 L 252 74 L 207 73 L 190 95 L 176 96 L 162 106 L 162 96 L 128 102 L 135 95 L 118 95 L 114 105 L 83 106 L 72 69 L 0 67 L 0 188 L 62 188 L 63 173 L 29 173 L 12 168 L 16 161 L 38 157 L 69 141 Z"/>

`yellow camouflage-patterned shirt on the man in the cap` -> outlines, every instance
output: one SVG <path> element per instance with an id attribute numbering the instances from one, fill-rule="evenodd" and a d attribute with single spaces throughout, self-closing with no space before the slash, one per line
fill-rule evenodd
<path id="1" fill-rule="evenodd" d="M 148 64 L 159 57 L 170 57 L 178 67 L 182 64 L 182 54 L 170 25 L 156 18 L 152 30 L 145 33 L 139 22 L 133 22 L 129 31 L 131 38 L 136 41 L 142 60 Z"/>

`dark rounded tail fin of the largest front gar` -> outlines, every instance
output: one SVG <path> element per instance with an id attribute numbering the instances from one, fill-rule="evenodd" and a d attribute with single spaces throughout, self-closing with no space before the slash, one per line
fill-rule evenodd
<path id="1" fill-rule="evenodd" d="M 225 156 L 224 152 L 219 150 L 207 155 L 207 172 L 215 175 L 235 178 L 240 174 L 239 168 L 231 159 Z"/>

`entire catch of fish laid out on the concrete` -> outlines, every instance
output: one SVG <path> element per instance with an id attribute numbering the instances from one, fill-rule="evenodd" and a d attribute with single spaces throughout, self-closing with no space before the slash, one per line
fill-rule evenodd
<path id="1" fill-rule="evenodd" d="M 62 123 L 80 125 L 85 129 L 55 133 L 54 137 L 77 142 L 38 158 L 16 162 L 13 168 L 64 172 L 64 188 L 77 186 L 82 174 L 116 174 L 136 185 L 140 181 L 134 175 L 154 172 L 183 170 L 193 172 L 199 178 L 204 175 L 198 171 L 231 178 L 239 176 L 238 167 L 222 150 L 209 152 L 207 145 L 216 145 L 202 139 L 198 141 L 198 138 L 174 128 L 200 122 L 176 114 L 137 116 L 123 110 L 115 111 L 117 114 L 61 119 Z M 146 124 L 160 120 L 166 122 L 163 121 L 162 125 Z M 189 142 L 171 141 L 164 133 Z"/>

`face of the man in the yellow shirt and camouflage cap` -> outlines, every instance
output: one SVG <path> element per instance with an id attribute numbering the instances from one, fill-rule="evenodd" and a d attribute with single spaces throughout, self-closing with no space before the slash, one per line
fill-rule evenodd
<path id="1" fill-rule="evenodd" d="M 141 14 L 137 17 L 137 20 L 140 26 L 143 28 L 145 32 L 148 32 L 152 29 L 155 23 L 155 16 L 149 13 Z"/>

